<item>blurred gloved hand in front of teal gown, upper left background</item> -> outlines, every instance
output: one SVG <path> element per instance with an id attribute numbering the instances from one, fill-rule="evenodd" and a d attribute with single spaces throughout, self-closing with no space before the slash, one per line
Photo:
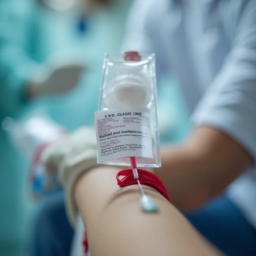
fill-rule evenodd
<path id="1" fill-rule="evenodd" d="M 84 68 L 84 63 L 78 58 L 53 54 L 34 71 L 28 83 L 27 95 L 35 98 L 66 92 L 77 84 Z"/>

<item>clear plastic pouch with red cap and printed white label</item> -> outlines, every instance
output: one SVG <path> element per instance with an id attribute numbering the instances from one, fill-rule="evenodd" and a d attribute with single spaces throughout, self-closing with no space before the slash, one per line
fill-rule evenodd
<path id="1" fill-rule="evenodd" d="M 95 125 L 98 163 L 161 166 L 154 54 L 105 54 Z"/>

